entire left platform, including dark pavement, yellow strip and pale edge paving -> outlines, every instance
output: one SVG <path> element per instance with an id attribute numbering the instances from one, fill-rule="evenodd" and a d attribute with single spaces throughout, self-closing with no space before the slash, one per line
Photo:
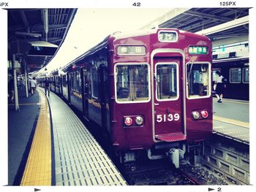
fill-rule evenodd
<path id="1" fill-rule="evenodd" d="M 8 105 L 8 185 L 127 185 L 80 119 L 42 88 Z"/>

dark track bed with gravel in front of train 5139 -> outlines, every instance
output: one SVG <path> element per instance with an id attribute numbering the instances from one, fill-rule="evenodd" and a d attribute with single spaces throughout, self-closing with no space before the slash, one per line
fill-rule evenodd
<path id="1" fill-rule="evenodd" d="M 136 168 L 135 168 L 136 167 Z M 214 174 L 206 167 L 190 164 L 176 169 L 167 159 L 143 161 L 130 165 L 122 172 L 129 185 L 228 185 L 221 175 Z"/>

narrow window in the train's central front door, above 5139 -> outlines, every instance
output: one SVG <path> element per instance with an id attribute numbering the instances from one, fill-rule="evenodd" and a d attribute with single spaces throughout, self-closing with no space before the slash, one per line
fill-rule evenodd
<path id="1" fill-rule="evenodd" d="M 178 99 L 178 64 L 157 64 L 157 100 Z"/>

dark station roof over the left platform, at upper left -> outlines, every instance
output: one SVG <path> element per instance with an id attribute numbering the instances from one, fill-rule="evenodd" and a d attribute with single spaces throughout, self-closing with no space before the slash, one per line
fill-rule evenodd
<path id="1" fill-rule="evenodd" d="M 77 9 L 7 9 L 8 10 L 8 59 L 17 54 L 29 66 L 29 72 L 37 71 L 47 65 L 58 52 L 67 35 Z M 42 41 L 57 45 L 53 56 L 27 55 L 22 53 L 26 42 Z M 20 45 L 20 47 L 18 47 Z"/>

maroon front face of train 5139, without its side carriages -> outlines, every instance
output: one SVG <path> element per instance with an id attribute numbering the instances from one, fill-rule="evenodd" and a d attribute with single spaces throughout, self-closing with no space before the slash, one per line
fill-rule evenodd
<path id="1" fill-rule="evenodd" d="M 110 127 L 124 161 L 135 161 L 142 150 L 151 159 L 162 157 L 157 151 L 180 153 L 189 143 L 208 139 L 211 41 L 169 28 L 111 40 Z"/>

